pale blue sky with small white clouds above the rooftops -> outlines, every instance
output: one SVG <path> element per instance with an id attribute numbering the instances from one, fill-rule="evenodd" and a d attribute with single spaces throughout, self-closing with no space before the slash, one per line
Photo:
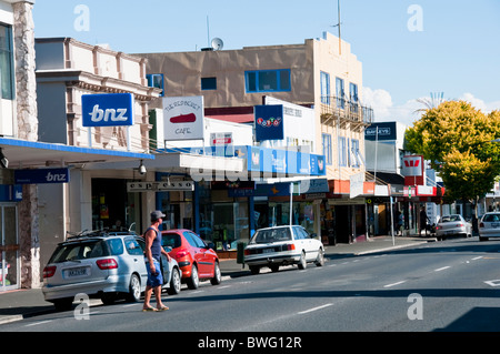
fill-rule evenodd
<path id="1" fill-rule="evenodd" d="M 377 121 L 411 124 L 422 108 L 416 100 L 431 92 L 500 109 L 500 0 L 340 4 L 342 39 L 362 62 L 363 103 Z M 37 38 L 72 37 L 127 53 L 200 50 L 216 37 L 240 49 L 338 33 L 337 0 L 38 0 L 33 17 Z"/>

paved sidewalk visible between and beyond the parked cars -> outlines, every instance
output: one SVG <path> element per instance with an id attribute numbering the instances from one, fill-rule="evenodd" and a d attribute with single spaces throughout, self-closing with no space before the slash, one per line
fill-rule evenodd
<path id="1" fill-rule="evenodd" d="M 324 247 L 324 257 L 327 262 L 334 257 L 356 256 L 374 252 L 383 252 L 397 250 L 401 247 L 410 247 L 421 243 L 436 241 L 433 237 L 392 237 L 377 236 L 370 241 L 358 242 L 352 244 L 327 245 Z M 220 262 L 222 279 L 250 275 L 250 271 L 246 265 L 238 264 L 236 260 L 221 260 Z M 41 289 L 14 290 L 0 292 L 0 325 L 13 321 L 19 321 L 37 314 L 50 313 L 54 311 L 51 303 L 43 300 Z"/>

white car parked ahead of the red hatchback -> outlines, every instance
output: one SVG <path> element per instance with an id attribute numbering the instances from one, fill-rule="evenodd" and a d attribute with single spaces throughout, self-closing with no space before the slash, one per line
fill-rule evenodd
<path id="1" fill-rule="evenodd" d="M 309 234 L 298 225 L 274 226 L 258 230 L 244 247 L 244 263 L 252 274 L 262 266 L 277 272 L 281 265 L 298 264 L 307 267 L 308 262 L 324 264 L 324 247 L 316 234 Z"/>

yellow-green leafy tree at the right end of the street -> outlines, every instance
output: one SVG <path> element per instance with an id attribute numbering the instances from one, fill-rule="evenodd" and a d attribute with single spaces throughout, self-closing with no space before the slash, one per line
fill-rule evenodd
<path id="1" fill-rule="evenodd" d="M 428 108 L 406 132 L 406 150 L 422 154 L 443 180 L 451 200 L 474 201 L 500 174 L 500 111 L 489 114 L 464 101 Z"/>

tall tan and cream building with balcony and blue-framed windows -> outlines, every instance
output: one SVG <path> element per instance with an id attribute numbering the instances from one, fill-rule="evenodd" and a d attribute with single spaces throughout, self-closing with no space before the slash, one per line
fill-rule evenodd
<path id="1" fill-rule="evenodd" d="M 266 146 L 324 155 L 329 190 L 308 200 L 318 205 L 318 231 L 330 230 L 331 242 L 366 239 L 364 199 L 350 198 L 350 179 L 361 175 L 364 182 L 364 128 L 373 117 L 362 105 L 362 65 L 349 43 L 324 33 L 302 44 L 138 55 L 148 59 L 147 73 L 164 97 L 201 95 L 210 118 L 253 123 L 263 95 L 311 108 L 313 138 Z M 162 100 L 151 107 L 161 109 Z"/>

